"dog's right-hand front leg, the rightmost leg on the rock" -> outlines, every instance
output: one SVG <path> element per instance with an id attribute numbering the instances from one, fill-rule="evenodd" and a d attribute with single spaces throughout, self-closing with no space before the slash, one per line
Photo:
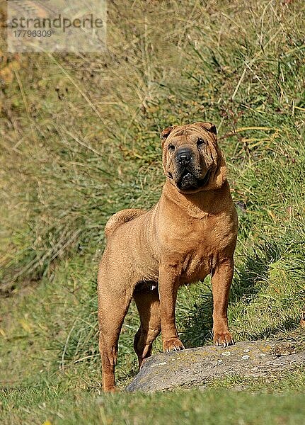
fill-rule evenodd
<path id="1" fill-rule="evenodd" d="M 224 259 L 212 271 L 214 344 L 229 346 L 234 340 L 228 327 L 229 290 L 233 278 L 233 259 Z"/>

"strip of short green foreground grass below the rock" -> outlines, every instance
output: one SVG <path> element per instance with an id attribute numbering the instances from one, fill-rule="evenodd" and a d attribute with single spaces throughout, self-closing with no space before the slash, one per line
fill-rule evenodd
<path id="1" fill-rule="evenodd" d="M 190 390 L 100 395 L 56 387 L 2 390 L 2 424 L 303 424 L 304 395 Z M 34 409 L 29 405 L 34 404 Z M 18 408 L 18 415 L 15 413 Z M 19 416 L 20 415 L 20 416 Z"/>

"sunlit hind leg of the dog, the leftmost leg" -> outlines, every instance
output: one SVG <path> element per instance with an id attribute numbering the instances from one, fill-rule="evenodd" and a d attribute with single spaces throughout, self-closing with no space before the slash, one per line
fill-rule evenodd
<path id="1" fill-rule="evenodd" d="M 120 285 L 117 285 L 120 288 Z M 117 341 L 132 294 L 122 291 L 98 290 L 99 348 L 102 360 L 103 390 L 115 391 Z"/>

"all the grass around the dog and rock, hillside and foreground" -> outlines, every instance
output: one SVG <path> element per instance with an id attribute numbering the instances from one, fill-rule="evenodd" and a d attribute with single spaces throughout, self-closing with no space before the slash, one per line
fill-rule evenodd
<path id="1" fill-rule="evenodd" d="M 96 271 L 108 217 L 160 196 L 161 129 L 212 120 L 239 217 L 235 339 L 304 343 L 304 6 L 108 8 L 107 52 L 8 55 L 0 45 L 1 423 L 301 424 L 301 370 L 203 383 L 210 390 L 183 392 L 183 403 L 180 392 L 100 395 Z M 209 280 L 180 290 L 177 317 L 187 346 L 211 344 Z M 136 373 L 138 325 L 132 305 L 120 387 Z"/>

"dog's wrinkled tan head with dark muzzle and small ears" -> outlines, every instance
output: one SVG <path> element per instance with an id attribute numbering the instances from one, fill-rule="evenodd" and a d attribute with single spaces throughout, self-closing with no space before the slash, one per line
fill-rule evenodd
<path id="1" fill-rule="evenodd" d="M 212 123 L 176 125 L 161 132 L 163 169 L 180 192 L 205 190 L 219 160 L 217 132 Z"/>

